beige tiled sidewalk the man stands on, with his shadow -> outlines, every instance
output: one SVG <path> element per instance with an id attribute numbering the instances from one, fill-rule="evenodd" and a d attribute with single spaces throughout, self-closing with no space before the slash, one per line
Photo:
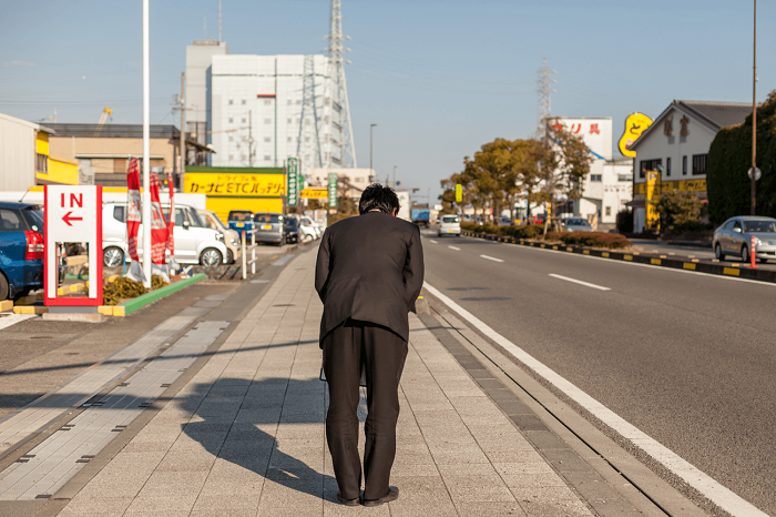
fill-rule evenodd
<path id="1" fill-rule="evenodd" d="M 308 252 L 289 263 L 218 353 L 59 515 L 592 515 L 415 315 L 391 478 L 400 497 L 339 505 L 314 261 Z"/>

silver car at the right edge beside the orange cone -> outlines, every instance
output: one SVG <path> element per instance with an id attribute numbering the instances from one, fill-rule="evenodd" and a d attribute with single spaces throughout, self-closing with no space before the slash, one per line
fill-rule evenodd
<path id="1" fill-rule="evenodd" d="M 712 247 L 721 261 L 726 255 L 738 255 L 749 262 L 752 237 L 755 237 L 755 258 L 766 262 L 776 260 L 776 219 L 758 215 L 731 217 L 714 231 Z"/>

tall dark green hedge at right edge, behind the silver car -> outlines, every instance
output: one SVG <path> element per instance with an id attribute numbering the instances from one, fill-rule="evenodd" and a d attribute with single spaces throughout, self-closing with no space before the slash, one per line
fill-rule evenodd
<path id="1" fill-rule="evenodd" d="M 776 217 L 776 90 L 757 109 L 757 214 Z M 708 150 L 706 187 L 708 215 L 719 224 L 734 215 L 748 215 L 752 204 L 752 115 L 743 124 L 723 128 Z"/>

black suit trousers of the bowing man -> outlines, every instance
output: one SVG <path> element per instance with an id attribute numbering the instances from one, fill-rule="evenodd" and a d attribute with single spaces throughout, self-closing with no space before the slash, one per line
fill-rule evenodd
<path id="1" fill-rule="evenodd" d="M 407 358 L 407 342 L 385 327 L 348 318 L 324 337 L 323 348 L 330 398 L 326 440 L 339 491 L 346 499 L 360 495 L 357 410 L 361 364 L 365 365 L 368 416 L 364 498 L 378 499 L 388 494 L 396 456 L 398 389 Z"/>

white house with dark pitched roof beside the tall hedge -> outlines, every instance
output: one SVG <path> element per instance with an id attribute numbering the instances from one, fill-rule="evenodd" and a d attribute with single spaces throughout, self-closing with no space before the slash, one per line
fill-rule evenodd
<path id="1" fill-rule="evenodd" d="M 631 150 L 636 152 L 633 175 L 634 232 L 645 225 L 645 182 L 647 171 L 658 172 L 654 195 L 670 190 L 706 194 L 706 158 L 717 132 L 744 122 L 751 103 L 673 101 L 655 119 Z M 637 171 L 637 172 L 636 172 Z"/>

